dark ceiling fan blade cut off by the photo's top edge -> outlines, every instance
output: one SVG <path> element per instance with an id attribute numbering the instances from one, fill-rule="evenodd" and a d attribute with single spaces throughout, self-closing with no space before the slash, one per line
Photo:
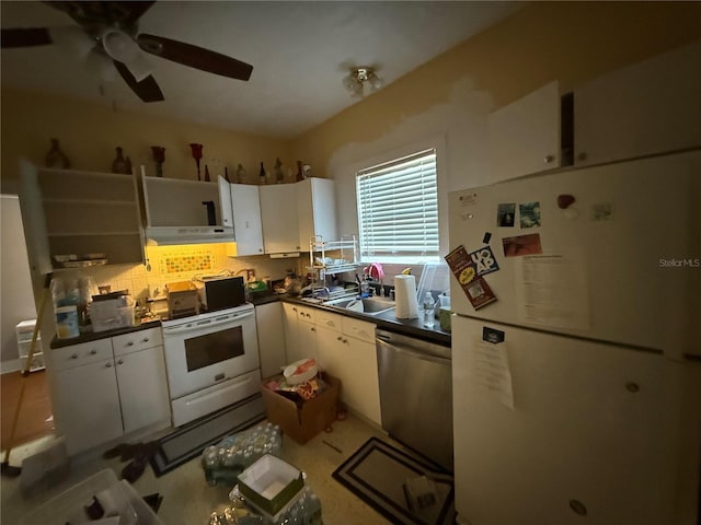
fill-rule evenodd
<path id="1" fill-rule="evenodd" d="M 129 31 L 154 1 L 47 1 L 47 5 L 58 9 L 84 27 L 102 27 L 105 23 L 116 24 Z"/>

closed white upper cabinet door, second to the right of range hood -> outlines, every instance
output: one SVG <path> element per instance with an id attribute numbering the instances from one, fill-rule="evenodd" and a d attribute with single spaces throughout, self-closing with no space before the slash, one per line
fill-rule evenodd
<path id="1" fill-rule="evenodd" d="M 290 184 L 258 186 L 266 254 L 299 252 L 297 196 Z"/>

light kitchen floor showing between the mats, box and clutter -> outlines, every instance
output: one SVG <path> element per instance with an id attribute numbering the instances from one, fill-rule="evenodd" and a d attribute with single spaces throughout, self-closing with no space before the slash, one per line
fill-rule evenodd
<path id="1" fill-rule="evenodd" d="M 283 440 L 280 457 L 307 472 L 307 483 L 320 498 L 322 515 L 326 525 L 390 523 L 331 477 L 333 470 L 343 460 L 374 435 L 397 445 L 380 429 L 367 424 L 352 413 L 348 413 L 345 421 L 336 421 L 333 425 L 333 432 L 322 432 L 304 445 L 299 445 L 290 439 Z M 37 446 L 46 446 L 49 441 L 50 438 L 46 438 L 32 444 L 19 446 L 11 452 L 10 464 L 21 465 L 24 457 L 32 455 Z M 101 452 L 87 453 L 72 459 L 67 480 L 33 497 L 22 495 L 18 478 L 2 476 L 0 480 L 0 523 L 21 523 L 20 518 L 33 509 L 102 469 L 112 468 L 119 478 L 119 472 L 126 463 L 120 463 L 119 458 L 103 459 L 100 455 Z M 146 472 L 134 482 L 134 488 L 141 495 L 153 492 L 163 495 L 158 515 L 166 525 L 207 525 L 212 511 L 226 506 L 228 492 L 231 489 L 230 487 L 207 485 L 199 457 L 160 478 L 153 475 L 149 466 Z"/>

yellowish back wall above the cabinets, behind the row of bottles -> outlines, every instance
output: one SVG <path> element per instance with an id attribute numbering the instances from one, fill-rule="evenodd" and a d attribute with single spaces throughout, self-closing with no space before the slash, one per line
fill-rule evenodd
<path id="1" fill-rule="evenodd" d="M 43 166 L 50 138 L 59 139 L 61 150 L 76 170 L 111 172 L 122 147 L 135 166 L 143 164 L 148 175 L 154 175 L 151 145 L 165 148 L 163 175 L 172 178 L 197 179 L 197 168 L 189 149 L 191 142 L 204 144 L 204 164 L 210 175 L 223 175 L 229 168 L 233 180 L 239 163 L 255 184 L 260 162 L 266 167 L 279 156 L 286 167 L 294 168 L 288 141 L 238 133 L 226 129 L 181 122 L 150 115 L 113 109 L 107 105 L 89 104 L 71 98 L 2 88 L 2 163 L 3 192 L 16 192 L 18 160 L 22 156 Z M 219 167 L 216 167 L 219 166 Z"/>

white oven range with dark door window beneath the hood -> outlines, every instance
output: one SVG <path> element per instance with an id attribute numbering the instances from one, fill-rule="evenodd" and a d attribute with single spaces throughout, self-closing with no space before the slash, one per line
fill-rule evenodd
<path id="1" fill-rule="evenodd" d="M 252 304 L 164 320 L 163 347 L 174 427 L 260 396 Z"/>

